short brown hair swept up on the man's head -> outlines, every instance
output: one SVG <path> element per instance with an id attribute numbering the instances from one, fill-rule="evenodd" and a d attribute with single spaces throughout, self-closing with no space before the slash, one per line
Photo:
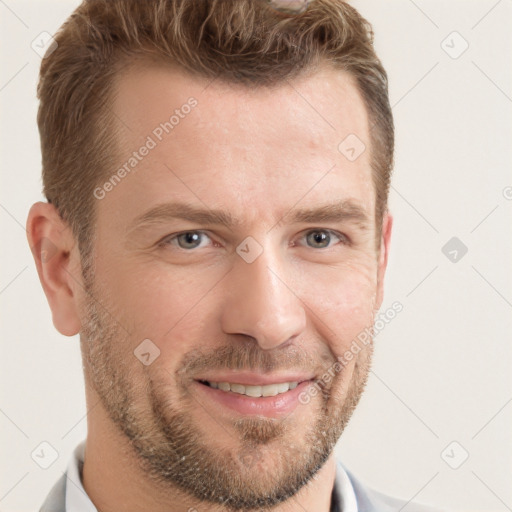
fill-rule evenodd
<path id="1" fill-rule="evenodd" d="M 370 120 L 380 239 L 393 117 L 371 25 L 347 3 L 312 0 L 293 14 L 265 0 L 85 0 L 55 40 L 56 49 L 42 60 L 37 90 L 43 186 L 82 256 L 94 225 L 93 190 L 115 165 L 114 79 L 135 58 L 247 87 L 284 83 L 324 62 L 349 72 Z"/>

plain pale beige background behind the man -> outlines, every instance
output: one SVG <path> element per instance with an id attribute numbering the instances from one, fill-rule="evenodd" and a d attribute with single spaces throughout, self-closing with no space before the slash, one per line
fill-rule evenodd
<path id="1" fill-rule="evenodd" d="M 78 338 L 53 328 L 24 229 L 41 199 L 31 44 L 77 4 L 0 0 L 3 512 L 37 510 L 86 436 Z M 388 494 L 512 510 L 512 1 L 353 4 L 390 77 L 395 226 L 382 311 L 403 311 L 377 337 L 338 454 Z M 48 469 L 31 458 L 43 441 L 58 452 Z"/>

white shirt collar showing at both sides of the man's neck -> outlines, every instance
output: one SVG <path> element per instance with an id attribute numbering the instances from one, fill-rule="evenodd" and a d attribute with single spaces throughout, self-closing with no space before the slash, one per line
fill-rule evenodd
<path id="1" fill-rule="evenodd" d="M 82 484 L 85 441 L 84 439 L 75 448 L 67 467 L 66 510 L 98 512 Z M 341 462 L 336 465 L 330 512 L 357 512 L 354 488 Z"/>

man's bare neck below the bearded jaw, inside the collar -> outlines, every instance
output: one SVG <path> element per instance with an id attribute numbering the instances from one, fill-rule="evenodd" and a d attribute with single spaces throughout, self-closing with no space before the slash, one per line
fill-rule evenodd
<path id="1" fill-rule="evenodd" d="M 222 506 L 200 502 L 178 488 L 162 489 L 147 478 L 128 439 L 111 424 L 102 404 L 89 408 L 83 486 L 99 512 L 174 512 L 210 510 Z M 307 485 L 273 512 L 329 512 L 336 464 L 331 454 Z"/>

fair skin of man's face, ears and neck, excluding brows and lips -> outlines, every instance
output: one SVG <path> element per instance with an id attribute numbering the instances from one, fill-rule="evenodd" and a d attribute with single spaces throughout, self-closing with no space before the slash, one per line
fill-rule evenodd
<path id="1" fill-rule="evenodd" d="M 372 345 L 323 393 L 276 417 L 219 406 L 195 378 L 242 369 L 319 378 L 372 326 L 392 218 L 385 215 L 376 250 L 369 150 L 350 162 L 337 149 L 351 133 L 370 146 L 353 80 L 321 68 L 293 87 L 248 90 L 140 64 L 119 77 L 116 93 L 119 165 L 189 97 L 198 104 L 136 172 L 96 201 L 90 282 L 54 207 L 36 203 L 29 214 L 29 243 L 37 247 L 54 324 L 81 337 L 87 493 L 101 512 L 328 511 L 332 447 L 363 391 Z M 361 209 L 366 229 L 350 219 L 290 220 L 290 211 L 340 200 Z M 240 222 L 134 225 L 174 201 L 219 209 Z M 194 230 L 204 233 L 196 248 L 183 237 L 192 248 L 180 248 L 169 237 Z M 311 237 L 318 231 L 331 236 L 328 247 Z M 248 236 L 262 249 L 252 263 L 236 252 Z M 48 246 L 51 258 L 41 257 Z M 144 339 L 160 350 L 148 366 L 133 353 Z M 201 482 L 210 491 L 201 491 Z M 222 486 L 231 501 L 223 503 Z"/>

